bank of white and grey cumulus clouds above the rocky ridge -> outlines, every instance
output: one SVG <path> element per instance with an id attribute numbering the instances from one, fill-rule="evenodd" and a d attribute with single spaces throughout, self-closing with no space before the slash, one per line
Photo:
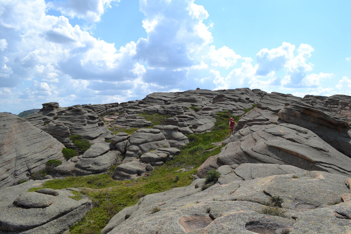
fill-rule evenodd
<path id="1" fill-rule="evenodd" d="M 119 0 L 0 2 L 0 107 L 18 112 L 36 103 L 62 106 L 143 98 L 151 92 L 200 88 L 318 87 L 331 73 L 311 73 L 313 48 L 283 42 L 256 54 L 212 45 L 215 27 L 194 0 L 140 0 L 146 38 L 115 45 L 95 38 L 69 18 L 97 22 Z M 47 15 L 55 9 L 61 16 Z M 67 16 L 67 17 L 66 17 Z M 127 32 L 126 32 L 127 33 Z M 282 78 L 283 77 L 283 78 Z M 346 87 L 345 82 L 340 83 Z M 21 86 L 20 86 L 21 85 Z M 23 87 L 25 88 L 19 88 Z M 337 86 L 339 87 L 339 86 Z M 336 88 L 337 88 L 336 87 Z M 0 89 L 5 94 L 5 89 Z M 275 89 L 274 89 L 275 90 Z M 8 93 L 9 94 L 9 93 Z M 6 109 L 4 109 L 6 111 Z"/>

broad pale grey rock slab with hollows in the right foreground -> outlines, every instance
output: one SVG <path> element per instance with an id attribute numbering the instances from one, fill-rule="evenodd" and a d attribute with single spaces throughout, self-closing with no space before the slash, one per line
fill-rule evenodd
<path id="1" fill-rule="evenodd" d="M 271 165 L 265 175 L 266 168 L 257 166 L 261 174 L 255 178 L 237 167 L 249 180 L 232 177 L 201 192 L 204 179 L 198 179 L 187 187 L 146 195 L 115 215 L 101 234 L 349 233 L 351 201 L 342 199 L 350 194 L 346 176 L 279 165 Z M 230 174 L 235 172 L 220 177 Z M 284 217 L 261 213 L 262 203 L 272 205 L 272 196 L 282 199 Z"/>

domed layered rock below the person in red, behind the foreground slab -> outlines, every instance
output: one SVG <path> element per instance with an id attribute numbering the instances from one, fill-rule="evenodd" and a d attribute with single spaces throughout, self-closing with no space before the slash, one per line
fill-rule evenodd
<path id="1" fill-rule="evenodd" d="M 241 163 L 293 165 L 305 170 L 351 174 L 351 158 L 338 152 L 310 130 L 282 123 L 255 127 L 257 131 L 228 143 L 221 153 L 208 158 L 198 168 L 203 177 L 211 168 Z M 253 130 L 253 128 L 251 128 Z M 217 166 L 216 166 L 217 165 Z"/>

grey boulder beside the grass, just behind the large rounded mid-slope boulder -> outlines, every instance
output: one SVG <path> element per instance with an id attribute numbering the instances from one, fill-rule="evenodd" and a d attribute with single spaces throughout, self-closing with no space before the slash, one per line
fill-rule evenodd
<path id="1" fill-rule="evenodd" d="M 171 147 L 184 146 L 189 143 L 188 138 L 180 132 L 179 127 L 173 125 L 155 125 L 153 128 L 159 129 L 165 136 Z"/>

